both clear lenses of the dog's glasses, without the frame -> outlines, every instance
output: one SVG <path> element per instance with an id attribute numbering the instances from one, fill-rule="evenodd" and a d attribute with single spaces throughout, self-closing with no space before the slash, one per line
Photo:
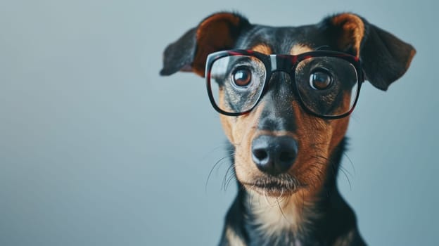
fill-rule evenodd
<path id="1" fill-rule="evenodd" d="M 358 77 L 348 60 L 331 56 L 301 60 L 291 76 L 303 105 L 322 116 L 349 112 L 355 104 Z M 215 104 L 224 112 L 251 110 L 267 79 L 264 63 L 254 56 L 218 58 L 210 68 L 210 88 Z"/>

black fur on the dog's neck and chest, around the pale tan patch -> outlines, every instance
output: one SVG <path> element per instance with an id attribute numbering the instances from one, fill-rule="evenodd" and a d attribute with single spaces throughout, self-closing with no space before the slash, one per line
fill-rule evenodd
<path id="1" fill-rule="evenodd" d="M 282 233 L 281 240 L 277 237 L 267 238 L 267 236 L 261 235 L 257 225 L 255 225 L 254 214 L 246 206 L 248 193 L 238 183 L 238 194 L 229 208 L 229 212 L 227 212 L 219 245 L 231 245 L 226 237 L 227 228 L 233 230 L 246 245 L 252 246 L 295 245 L 295 242 L 303 246 L 333 245 L 341 236 L 348 235 L 350 232 L 352 232 L 354 237 L 349 245 L 365 245 L 356 228 L 357 220 L 355 214 L 341 197 L 336 184 L 338 169 L 345 152 L 346 143 L 347 140 L 345 138 L 329 159 L 333 171 L 327 174 L 325 188 L 319 195 L 321 199 L 316 207 L 325 216 L 322 216 L 319 221 L 312 221 L 312 224 L 308 225 L 306 230 L 308 233 L 306 235 L 294 235 L 289 231 L 285 231 Z M 229 145 L 229 149 L 234 150 L 232 145 Z M 231 157 L 231 162 L 234 163 L 234 157 Z"/>

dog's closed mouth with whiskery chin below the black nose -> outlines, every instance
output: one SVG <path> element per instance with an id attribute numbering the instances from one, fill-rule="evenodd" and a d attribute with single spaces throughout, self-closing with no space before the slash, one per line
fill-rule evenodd
<path id="1" fill-rule="evenodd" d="M 292 195 L 300 188 L 305 188 L 305 185 L 300 183 L 288 174 L 281 174 L 279 176 L 263 176 L 251 182 L 241 182 L 243 186 L 250 190 L 255 190 L 261 195 L 268 195 L 271 197 L 283 197 Z"/>

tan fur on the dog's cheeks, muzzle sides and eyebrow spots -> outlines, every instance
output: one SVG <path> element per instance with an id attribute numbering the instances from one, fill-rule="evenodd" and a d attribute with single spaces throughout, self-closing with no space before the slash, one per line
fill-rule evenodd
<path id="1" fill-rule="evenodd" d="M 271 50 L 265 45 L 257 45 L 254 50 L 262 53 L 270 53 Z M 292 54 L 312 51 L 312 48 L 305 45 L 295 45 L 291 48 Z M 349 101 L 349 100 L 347 100 Z M 220 104 L 224 103 L 224 96 L 220 93 Z M 291 203 L 300 203 L 304 200 L 313 201 L 314 196 L 322 189 L 324 179 L 328 173 L 328 158 L 334 148 L 341 142 L 348 128 L 349 117 L 325 121 L 322 118 L 314 117 L 294 101 L 293 108 L 295 122 L 298 129 L 295 132 L 288 131 L 260 131 L 257 124 L 265 105 L 260 102 L 254 110 L 239 117 L 220 115 L 222 127 L 229 138 L 230 143 L 235 147 L 235 170 L 236 177 L 248 190 L 255 190 L 260 195 L 279 196 L 279 193 L 265 193 L 267 190 L 255 188 L 252 183 L 265 176 L 253 163 L 251 156 L 251 143 L 260 135 L 291 136 L 298 141 L 298 156 L 295 164 L 288 171 L 297 181 L 298 190 L 301 190 L 300 199 L 291 198 Z M 297 190 L 290 190 L 291 195 Z M 264 194 L 265 193 L 265 194 Z"/>

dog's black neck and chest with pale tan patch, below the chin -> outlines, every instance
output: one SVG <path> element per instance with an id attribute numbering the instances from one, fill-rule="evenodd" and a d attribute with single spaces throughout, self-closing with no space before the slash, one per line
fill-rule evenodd
<path id="1" fill-rule="evenodd" d="M 336 169 L 343 150 L 344 141 L 331 157 Z M 224 238 L 235 241 L 222 245 L 363 245 L 355 214 L 338 193 L 336 171 L 329 175 L 313 195 L 298 190 L 273 198 L 239 185 L 224 228 Z"/>

